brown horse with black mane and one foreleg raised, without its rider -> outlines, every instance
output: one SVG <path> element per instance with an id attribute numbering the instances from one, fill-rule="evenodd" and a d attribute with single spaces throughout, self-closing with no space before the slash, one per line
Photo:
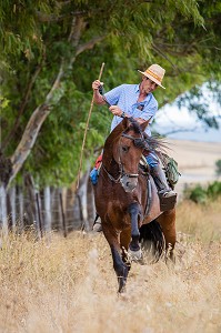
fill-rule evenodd
<path id="1" fill-rule="evenodd" d="M 175 210 L 160 210 L 154 181 L 140 165 L 144 151 L 160 147 L 155 139 L 144 139 L 148 123 L 139 125 L 132 118 L 124 118 L 115 127 L 106 140 L 94 186 L 96 208 L 111 249 L 119 292 L 124 290 L 130 270 L 128 253 L 141 258 L 141 239 L 154 241 L 154 251 L 161 253 L 164 240 L 171 258 L 175 244 Z"/>

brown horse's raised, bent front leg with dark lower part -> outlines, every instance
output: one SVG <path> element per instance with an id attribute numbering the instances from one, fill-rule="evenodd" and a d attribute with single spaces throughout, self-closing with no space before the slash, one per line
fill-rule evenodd
<path id="1" fill-rule="evenodd" d="M 131 218 L 131 242 L 129 245 L 129 253 L 132 256 L 132 260 L 140 260 L 142 258 L 141 248 L 139 243 L 140 231 L 138 228 L 138 220 L 140 215 L 140 206 L 138 203 L 131 203 L 128 212 Z"/>

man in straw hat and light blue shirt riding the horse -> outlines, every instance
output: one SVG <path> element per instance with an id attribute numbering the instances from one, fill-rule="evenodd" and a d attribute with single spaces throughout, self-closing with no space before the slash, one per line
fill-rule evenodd
<path id="1" fill-rule="evenodd" d="M 159 64 L 150 65 L 144 72 L 138 70 L 142 74 L 142 80 L 139 84 L 121 84 L 109 92 L 101 94 L 100 88 L 102 82 L 93 81 L 92 89 L 94 92 L 94 102 L 99 105 L 108 104 L 109 110 L 114 115 L 111 123 L 111 131 L 122 121 L 124 117 L 133 118 L 139 124 L 151 119 L 152 122 L 155 112 L 158 111 L 158 102 L 152 92 L 161 87 L 165 70 Z M 150 127 L 145 128 L 147 135 L 151 135 Z M 168 185 L 164 171 L 161 168 L 160 161 L 154 152 L 151 152 L 145 158 L 150 167 L 150 173 L 154 179 L 158 192 L 163 198 L 177 196 L 177 193 Z M 97 172 L 97 169 L 92 173 Z M 92 174 L 93 176 L 94 174 Z M 100 230 L 100 224 L 94 224 L 94 230 Z"/>

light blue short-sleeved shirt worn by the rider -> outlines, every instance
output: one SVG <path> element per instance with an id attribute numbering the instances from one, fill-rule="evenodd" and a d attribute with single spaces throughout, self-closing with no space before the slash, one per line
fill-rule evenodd
<path id="1" fill-rule="evenodd" d="M 152 122 L 158 110 L 158 102 L 152 93 L 149 93 L 142 102 L 138 103 L 139 84 L 121 84 L 104 94 L 111 105 L 118 105 L 122 111 L 133 118 L 148 120 L 152 117 Z M 111 123 L 111 131 L 122 121 L 122 118 L 114 115 Z M 149 125 L 145 133 L 151 135 Z"/>

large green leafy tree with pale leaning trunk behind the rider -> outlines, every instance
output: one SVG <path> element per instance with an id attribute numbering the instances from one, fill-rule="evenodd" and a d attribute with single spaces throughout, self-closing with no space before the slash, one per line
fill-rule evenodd
<path id="1" fill-rule="evenodd" d="M 161 63 L 169 88 L 158 92 L 161 105 L 195 84 L 219 82 L 220 7 L 197 0 L 2 1 L 2 183 L 21 169 L 39 184 L 74 179 L 91 81 L 103 61 L 106 89 Z M 87 159 L 102 144 L 109 121 L 107 109 L 94 108 Z"/>

